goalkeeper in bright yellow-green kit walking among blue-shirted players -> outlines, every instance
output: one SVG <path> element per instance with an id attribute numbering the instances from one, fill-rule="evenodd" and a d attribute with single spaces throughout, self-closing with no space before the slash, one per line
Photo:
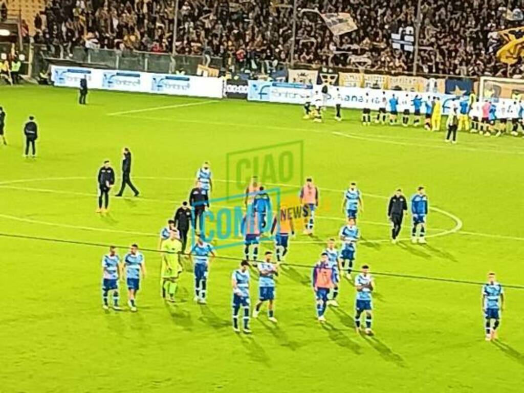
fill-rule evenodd
<path id="1" fill-rule="evenodd" d="M 178 231 L 170 231 L 169 238 L 162 242 L 160 246 L 162 252 L 161 285 L 162 298 L 174 303 L 174 294 L 177 291 L 178 278 L 182 272 L 180 263 L 180 252 L 182 242 L 178 236 Z"/>

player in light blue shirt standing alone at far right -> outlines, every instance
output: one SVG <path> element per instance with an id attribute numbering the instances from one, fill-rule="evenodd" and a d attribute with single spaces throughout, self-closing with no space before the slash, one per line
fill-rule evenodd
<path id="1" fill-rule="evenodd" d="M 488 274 L 488 282 L 482 287 L 482 311 L 486 319 L 486 340 L 497 338 L 500 324 L 500 311 L 504 311 L 504 289 L 496 281 L 493 271 Z M 493 327 L 491 321 L 495 320 Z"/>

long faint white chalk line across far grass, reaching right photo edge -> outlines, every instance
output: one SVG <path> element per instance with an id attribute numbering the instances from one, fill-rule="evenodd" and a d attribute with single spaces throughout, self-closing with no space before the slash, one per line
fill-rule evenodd
<path id="1" fill-rule="evenodd" d="M 463 145 L 475 145 L 479 146 L 478 144 L 467 142 L 461 143 L 459 142 L 459 146 L 449 146 L 444 145 L 444 140 L 435 140 L 434 144 L 419 144 L 419 143 L 409 143 L 409 142 L 402 142 L 402 141 L 396 141 L 396 140 L 388 140 L 387 138 L 398 138 L 396 136 L 378 136 L 378 135 L 371 135 L 371 136 L 364 136 L 363 135 L 355 135 L 355 134 L 345 134 L 337 131 L 333 131 L 332 129 L 309 129 L 309 128 L 298 128 L 298 127 L 281 127 L 281 126 L 268 126 L 268 125 L 259 125 L 259 124 L 245 124 L 245 123 L 229 123 L 229 122 L 210 122 L 210 121 L 203 121 L 203 120 L 195 120 L 195 119 L 182 119 L 182 118 L 171 118 L 171 117 L 147 117 L 147 116 L 129 116 L 129 115 L 122 115 L 124 117 L 129 118 L 136 118 L 136 119 L 143 119 L 143 120 L 153 120 L 153 121 L 160 121 L 160 122 L 173 122 L 173 123 L 194 123 L 194 124 L 208 124 L 208 125 L 218 125 L 218 126 L 227 126 L 227 127 L 243 127 L 243 128 L 266 128 L 266 129 L 276 129 L 276 130 L 288 130 L 288 131 L 311 131 L 315 133 L 322 133 L 322 132 L 330 132 L 333 135 L 336 136 L 343 136 L 346 138 L 354 138 L 354 139 L 361 139 L 361 140 L 367 140 L 367 141 L 374 141 L 378 143 L 385 143 L 390 145 L 399 145 L 399 146 L 416 146 L 416 147 L 424 147 L 424 148 L 434 148 L 434 149 L 454 149 L 454 150 L 462 150 L 462 151 L 473 151 L 473 152 L 483 152 L 483 153 L 497 153 L 497 154 L 514 154 L 514 155 L 524 155 L 524 150 L 518 151 L 518 150 L 503 150 L 503 149 L 497 149 L 494 147 L 491 148 L 474 148 L 474 147 L 465 147 Z M 400 139 L 400 138 L 399 138 Z M 413 140 L 418 140 L 417 138 L 412 138 Z M 431 139 L 434 140 L 434 139 Z M 520 150 L 520 149 L 519 149 Z"/>

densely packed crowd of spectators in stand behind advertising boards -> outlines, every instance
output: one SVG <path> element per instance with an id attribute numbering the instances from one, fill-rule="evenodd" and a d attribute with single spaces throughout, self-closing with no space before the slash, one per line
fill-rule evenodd
<path id="1" fill-rule="evenodd" d="M 391 34 L 414 26 L 417 0 L 297 0 L 294 60 L 386 72 L 409 71 L 413 53 L 393 49 Z M 291 56 L 292 0 L 180 0 L 177 53 L 222 58 L 226 68 L 260 69 Z M 425 73 L 521 73 L 495 59 L 490 32 L 506 28 L 518 0 L 422 2 L 419 70 Z M 334 38 L 315 13 L 348 12 L 359 28 Z M 174 0 L 49 0 L 34 20 L 35 41 L 52 46 L 171 52 Z M 45 21 L 44 21 L 45 19 Z"/>

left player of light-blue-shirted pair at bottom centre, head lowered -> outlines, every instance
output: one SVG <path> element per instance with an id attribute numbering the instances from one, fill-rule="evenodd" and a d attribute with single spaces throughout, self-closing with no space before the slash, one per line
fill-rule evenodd
<path id="1" fill-rule="evenodd" d="M 238 326 L 238 314 L 240 309 L 244 310 L 244 333 L 251 333 L 249 329 L 249 270 L 247 270 L 249 263 L 243 260 L 240 263 L 240 268 L 233 271 L 231 275 L 231 283 L 233 286 L 233 330 L 240 332 Z"/>

